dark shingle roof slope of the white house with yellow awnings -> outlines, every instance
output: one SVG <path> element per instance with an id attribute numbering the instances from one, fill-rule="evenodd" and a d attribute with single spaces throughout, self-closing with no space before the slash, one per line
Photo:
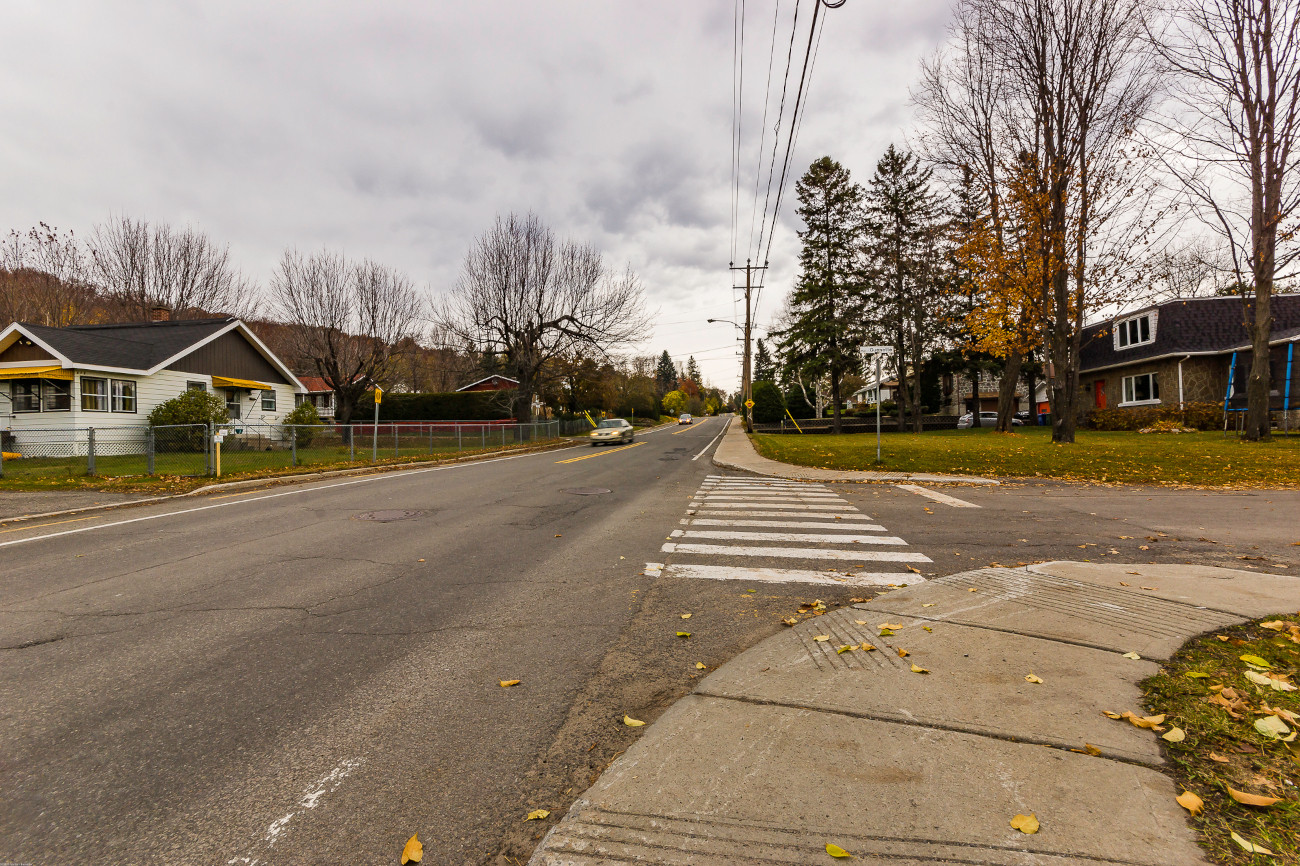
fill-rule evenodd
<path id="1" fill-rule="evenodd" d="M 22 326 L 74 364 L 150 369 L 213 335 L 234 319 L 143 321 L 72 328 Z"/>

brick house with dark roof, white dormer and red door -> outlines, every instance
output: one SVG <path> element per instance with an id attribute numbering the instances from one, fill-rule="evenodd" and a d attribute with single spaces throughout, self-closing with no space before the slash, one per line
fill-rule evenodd
<path id="1" fill-rule="evenodd" d="M 1274 295 L 1273 317 L 1269 406 L 1300 415 L 1300 294 Z M 1251 341 L 1242 299 L 1169 300 L 1089 325 L 1080 360 L 1084 411 L 1186 403 L 1243 410 Z"/>

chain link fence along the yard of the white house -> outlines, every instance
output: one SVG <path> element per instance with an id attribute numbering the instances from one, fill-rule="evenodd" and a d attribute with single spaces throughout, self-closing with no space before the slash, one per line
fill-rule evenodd
<path id="1" fill-rule="evenodd" d="M 454 456 L 547 442 L 559 421 L 398 421 L 391 424 L 182 424 L 5 430 L 0 475 L 204 476 L 295 466 Z"/>

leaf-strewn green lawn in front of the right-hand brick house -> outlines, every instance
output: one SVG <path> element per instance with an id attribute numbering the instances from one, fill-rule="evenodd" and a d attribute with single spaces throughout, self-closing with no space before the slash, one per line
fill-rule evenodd
<path id="1" fill-rule="evenodd" d="M 1300 436 L 1243 442 L 1222 433 L 1098 433 L 1079 430 L 1074 445 L 1053 445 L 1048 428 L 887 433 L 881 466 L 876 437 L 755 434 L 767 458 L 827 469 L 885 469 L 1070 481 L 1197 486 L 1300 484 Z"/>

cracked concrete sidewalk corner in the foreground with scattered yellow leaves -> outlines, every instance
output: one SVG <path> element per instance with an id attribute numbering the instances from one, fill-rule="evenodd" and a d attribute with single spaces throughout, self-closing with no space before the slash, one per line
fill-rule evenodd
<path id="1" fill-rule="evenodd" d="M 832 611 L 710 674 L 530 863 L 836 862 L 827 843 L 909 865 L 1206 863 L 1156 735 L 1101 711 L 1140 711 L 1138 683 L 1186 640 L 1297 597 L 1296 577 L 1057 562 Z"/>

